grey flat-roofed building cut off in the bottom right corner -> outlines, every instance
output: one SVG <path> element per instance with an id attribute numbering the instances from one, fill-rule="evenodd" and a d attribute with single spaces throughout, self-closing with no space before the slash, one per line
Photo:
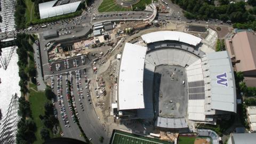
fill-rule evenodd
<path id="1" fill-rule="evenodd" d="M 227 144 L 255 143 L 256 133 L 231 133 Z"/>

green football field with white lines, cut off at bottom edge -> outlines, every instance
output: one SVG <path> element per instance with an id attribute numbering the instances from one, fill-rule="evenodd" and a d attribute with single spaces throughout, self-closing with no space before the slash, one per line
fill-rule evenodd
<path id="1" fill-rule="evenodd" d="M 158 139 L 142 137 L 131 133 L 116 131 L 111 140 L 111 144 L 165 144 L 170 142 L 161 141 Z"/>

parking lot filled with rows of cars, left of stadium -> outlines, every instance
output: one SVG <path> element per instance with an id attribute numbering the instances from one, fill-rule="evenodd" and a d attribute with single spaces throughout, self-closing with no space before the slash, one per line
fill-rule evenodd
<path id="1" fill-rule="evenodd" d="M 65 135 L 71 136 L 73 138 L 82 139 L 80 137 L 80 132 L 77 131 L 78 127 L 75 122 L 75 115 L 78 119 L 85 115 L 85 105 L 91 105 L 89 87 L 83 86 L 88 85 L 85 83 L 85 78 L 87 74 L 85 70 L 75 70 L 67 72 L 63 75 L 51 76 L 51 86 L 54 93 L 57 95 L 57 99 L 54 100 L 55 108 L 57 108 L 57 115 L 60 119 L 61 125 L 68 129 L 63 131 Z M 70 82 L 70 89 L 68 87 Z M 82 85 L 83 83 L 83 85 Z M 71 106 L 74 107 L 75 113 L 73 113 Z M 62 129 L 63 129 L 62 127 Z M 70 133 L 68 133 L 70 132 Z"/>

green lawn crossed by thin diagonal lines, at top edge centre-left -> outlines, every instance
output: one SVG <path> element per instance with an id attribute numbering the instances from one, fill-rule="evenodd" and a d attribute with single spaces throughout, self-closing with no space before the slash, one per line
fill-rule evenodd
<path id="1" fill-rule="evenodd" d="M 98 11 L 99 12 L 115 12 L 115 11 L 131 11 L 129 7 L 123 7 L 116 3 L 115 0 L 103 0 L 100 4 Z"/>

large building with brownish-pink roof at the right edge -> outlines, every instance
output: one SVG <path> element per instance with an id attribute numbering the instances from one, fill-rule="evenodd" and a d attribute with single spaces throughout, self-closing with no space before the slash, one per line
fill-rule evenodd
<path id="1" fill-rule="evenodd" d="M 244 74 L 246 85 L 256 86 L 256 35 L 251 31 L 241 31 L 225 42 L 236 70 Z"/>

